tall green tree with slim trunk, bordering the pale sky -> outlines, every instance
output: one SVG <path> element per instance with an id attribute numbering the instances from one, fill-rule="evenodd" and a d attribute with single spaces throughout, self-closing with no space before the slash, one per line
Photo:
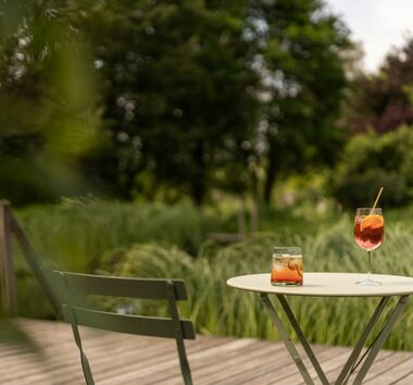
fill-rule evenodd
<path id="1" fill-rule="evenodd" d="M 263 198 L 276 177 L 331 164 L 342 142 L 335 125 L 347 86 L 349 30 L 318 0 L 250 2 L 249 35 L 262 47 L 260 129 L 266 144 Z"/>

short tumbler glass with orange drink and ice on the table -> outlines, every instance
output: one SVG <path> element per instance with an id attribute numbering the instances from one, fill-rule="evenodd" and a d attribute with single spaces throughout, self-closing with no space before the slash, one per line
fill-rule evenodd
<path id="1" fill-rule="evenodd" d="M 274 247 L 271 284 L 274 286 L 301 286 L 303 283 L 300 247 Z"/>

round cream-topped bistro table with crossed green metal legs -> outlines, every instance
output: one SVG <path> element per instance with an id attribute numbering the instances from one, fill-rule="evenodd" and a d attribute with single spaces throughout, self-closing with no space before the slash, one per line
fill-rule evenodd
<path id="1" fill-rule="evenodd" d="M 328 385 L 329 382 L 322 370 L 314 352 L 306 341 L 304 334 L 299 326 L 291 308 L 288 305 L 286 296 L 302 296 L 302 297 L 381 297 L 377 305 L 372 318 L 370 319 L 362 336 L 351 352 L 348 361 L 341 370 L 339 376 L 334 382 L 335 385 L 347 384 L 351 374 L 355 371 L 360 363 L 363 364 L 358 372 L 353 384 L 362 384 L 363 378 L 367 374 L 373 364 L 374 359 L 377 357 L 383 344 L 386 341 L 388 335 L 396 321 L 402 313 L 408 303 L 409 296 L 413 294 L 413 277 L 398 276 L 398 275 L 381 275 L 375 274 L 374 278 L 383 283 L 380 286 L 360 286 L 355 282 L 363 281 L 365 274 L 352 273 L 304 273 L 302 286 L 273 286 L 271 284 L 270 274 L 251 274 L 241 275 L 229 278 L 227 285 L 233 288 L 247 291 L 256 291 L 268 311 L 268 314 L 276 326 L 280 338 L 286 345 L 292 360 L 296 362 L 304 382 L 306 384 L 314 384 L 308 369 L 305 368 L 302 359 L 300 358 L 295 345 L 283 325 L 268 295 L 275 295 L 278 299 L 281 309 L 287 314 L 287 319 L 296 331 L 299 340 L 304 348 L 311 363 L 313 364 L 318 380 L 323 385 Z M 386 305 L 391 297 L 399 297 L 399 301 L 390 312 L 383 328 L 374 338 L 373 344 L 367 348 L 365 353 L 359 359 L 363 346 L 379 320 Z"/>

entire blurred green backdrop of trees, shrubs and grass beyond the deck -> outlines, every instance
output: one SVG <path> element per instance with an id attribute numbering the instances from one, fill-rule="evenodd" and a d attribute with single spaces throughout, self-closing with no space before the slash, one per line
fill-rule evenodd
<path id="1" fill-rule="evenodd" d="M 185 277 L 199 332 L 274 338 L 226 280 L 268 271 L 276 244 L 364 271 L 352 209 L 380 185 L 376 270 L 413 273 L 412 47 L 363 73 L 321 0 L 1 0 L 0 196 L 46 268 Z M 20 314 L 52 318 L 15 249 Z M 292 306 L 311 341 L 352 345 L 373 301 Z M 412 316 L 387 347 L 413 349 Z"/>

